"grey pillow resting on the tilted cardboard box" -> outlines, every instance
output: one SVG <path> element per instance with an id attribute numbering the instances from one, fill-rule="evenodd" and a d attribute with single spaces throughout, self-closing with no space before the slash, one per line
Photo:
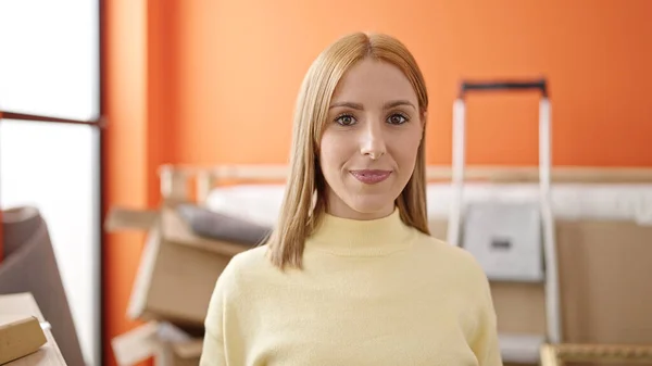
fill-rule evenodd
<path id="1" fill-rule="evenodd" d="M 271 227 L 213 212 L 195 204 L 179 204 L 176 210 L 196 235 L 209 239 L 256 245 L 272 232 Z"/>

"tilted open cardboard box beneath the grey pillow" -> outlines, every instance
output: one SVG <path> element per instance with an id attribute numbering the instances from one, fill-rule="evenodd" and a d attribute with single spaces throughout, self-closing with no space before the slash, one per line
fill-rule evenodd
<path id="1" fill-rule="evenodd" d="M 203 327 L 217 277 L 246 245 L 199 237 L 175 212 L 114 209 L 109 231 L 149 230 L 127 316 Z"/>

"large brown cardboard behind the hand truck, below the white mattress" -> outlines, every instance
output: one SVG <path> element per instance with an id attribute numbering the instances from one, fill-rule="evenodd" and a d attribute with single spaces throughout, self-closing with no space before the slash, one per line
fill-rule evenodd
<path id="1" fill-rule="evenodd" d="M 447 222 L 430 222 L 446 238 Z M 563 339 L 572 343 L 652 344 L 652 226 L 625 220 L 559 219 Z M 492 282 L 498 329 L 546 333 L 540 283 Z"/>

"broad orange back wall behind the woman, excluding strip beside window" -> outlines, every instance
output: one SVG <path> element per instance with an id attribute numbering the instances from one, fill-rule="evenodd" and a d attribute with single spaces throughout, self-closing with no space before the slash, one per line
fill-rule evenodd
<path id="1" fill-rule="evenodd" d="M 285 162 L 299 84 L 328 42 L 358 29 L 398 36 L 431 96 L 431 163 L 449 163 L 462 77 L 550 80 L 554 163 L 652 165 L 652 2 L 187 1 L 176 13 L 175 139 L 184 163 Z M 537 159 L 537 99 L 473 98 L 472 163 Z M 489 136 L 491 135 L 491 139 Z"/>

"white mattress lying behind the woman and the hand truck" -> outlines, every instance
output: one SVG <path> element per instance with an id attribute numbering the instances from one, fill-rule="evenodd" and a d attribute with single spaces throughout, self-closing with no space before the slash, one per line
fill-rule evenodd
<path id="1" fill-rule="evenodd" d="M 241 185 L 215 188 L 208 197 L 210 210 L 273 226 L 278 217 L 284 185 Z M 538 186 L 467 184 L 464 202 L 524 202 L 538 200 Z M 448 216 L 452 198 L 450 184 L 427 186 L 430 218 Z M 563 184 L 552 188 L 555 217 L 632 220 L 652 225 L 652 185 L 580 185 Z"/>

